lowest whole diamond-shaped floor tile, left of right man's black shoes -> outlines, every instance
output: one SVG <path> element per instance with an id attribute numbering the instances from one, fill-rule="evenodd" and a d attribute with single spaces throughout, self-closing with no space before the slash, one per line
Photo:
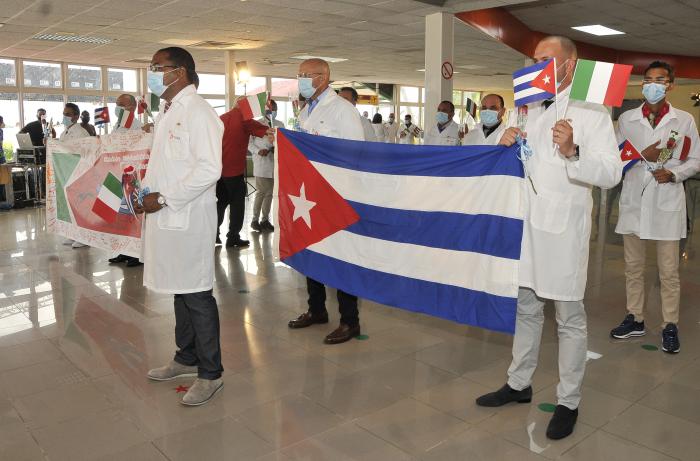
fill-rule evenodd
<path id="1" fill-rule="evenodd" d="M 464 421 L 412 398 L 359 418 L 356 424 L 414 456 L 469 427 Z"/>

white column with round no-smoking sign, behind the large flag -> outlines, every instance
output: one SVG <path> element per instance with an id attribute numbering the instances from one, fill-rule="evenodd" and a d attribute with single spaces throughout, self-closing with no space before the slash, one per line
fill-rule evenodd
<path id="1" fill-rule="evenodd" d="M 452 101 L 452 79 L 442 74 L 442 65 L 454 66 L 454 15 L 433 13 L 425 17 L 425 126 L 435 122 L 440 101 Z"/>

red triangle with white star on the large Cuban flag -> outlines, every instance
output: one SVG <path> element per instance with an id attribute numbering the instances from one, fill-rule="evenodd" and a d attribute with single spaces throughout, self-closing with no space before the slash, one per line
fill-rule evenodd
<path id="1" fill-rule="evenodd" d="M 277 162 L 281 260 L 359 221 L 350 204 L 281 131 Z"/>

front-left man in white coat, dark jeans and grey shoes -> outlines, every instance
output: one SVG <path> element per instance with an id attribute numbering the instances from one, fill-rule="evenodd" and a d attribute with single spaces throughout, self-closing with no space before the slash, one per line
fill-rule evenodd
<path id="1" fill-rule="evenodd" d="M 181 400 L 202 405 L 221 389 L 219 313 L 212 296 L 216 182 L 221 177 L 223 124 L 192 85 L 192 55 L 177 47 L 151 60 L 148 87 L 165 100 L 155 121 L 144 178 L 143 284 L 175 297 L 177 352 L 148 372 L 155 381 L 197 376 Z"/>

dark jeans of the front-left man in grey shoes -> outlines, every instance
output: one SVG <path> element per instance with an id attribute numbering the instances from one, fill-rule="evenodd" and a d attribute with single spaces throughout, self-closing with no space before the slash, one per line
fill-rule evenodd
<path id="1" fill-rule="evenodd" d="M 218 379 L 221 366 L 219 311 L 212 291 L 175 295 L 175 361 L 198 368 L 202 379 Z"/>

